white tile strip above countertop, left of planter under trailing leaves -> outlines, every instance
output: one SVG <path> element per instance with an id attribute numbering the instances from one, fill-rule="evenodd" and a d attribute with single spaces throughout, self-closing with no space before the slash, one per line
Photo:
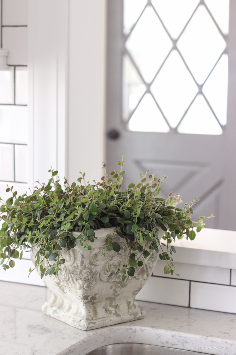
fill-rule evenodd
<path id="1" fill-rule="evenodd" d="M 4 269 L 0 267 L 0 280 L 18 282 L 21 284 L 45 286 L 36 270 L 34 270 L 28 277 L 30 267 L 31 269 L 34 268 L 34 264 L 31 260 L 15 259 L 15 266 L 13 268 L 9 268 L 4 271 Z"/>

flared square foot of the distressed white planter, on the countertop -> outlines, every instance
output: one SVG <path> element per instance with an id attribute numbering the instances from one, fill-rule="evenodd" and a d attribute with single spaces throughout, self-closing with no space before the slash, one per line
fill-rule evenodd
<path id="1" fill-rule="evenodd" d="M 99 304 L 96 304 L 96 307 L 90 305 L 80 308 L 76 302 L 52 295 L 51 299 L 42 306 L 42 311 L 48 316 L 82 330 L 107 327 L 145 317 L 146 312 L 135 300 L 126 304 L 124 308 L 127 308 L 127 312 L 118 313 L 116 309 L 121 308 L 120 306 L 115 304 L 113 311 L 104 309 L 104 303 L 100 307 Z M 123 306 L 125 305 L 123 304 Z"/>

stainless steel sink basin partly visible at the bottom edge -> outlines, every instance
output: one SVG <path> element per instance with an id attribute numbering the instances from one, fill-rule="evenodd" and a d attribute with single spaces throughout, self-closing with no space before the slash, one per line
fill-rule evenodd
<path id="1" fill-rule="evenodd" d="M 90 351 L 87 355 L 199 355 L 195 351 L 179 350 L 166 348 L 163 346 L 138 344 L 138 343 L 120 343 L 105 345 Z M 210 355 L 204 353 L 204 355 Z"/>

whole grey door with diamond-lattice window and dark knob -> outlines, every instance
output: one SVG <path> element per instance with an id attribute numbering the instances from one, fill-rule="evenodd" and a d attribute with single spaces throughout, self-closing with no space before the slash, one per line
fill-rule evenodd
<path id="1" fill-rule="evenodd" d="M 233 0 L 108 1 L 108 167 L 124 154 L 124 187 L 167 175 L 161 196 L 200 198 L 209 228 L 236 229 L 235 16 Z"/>

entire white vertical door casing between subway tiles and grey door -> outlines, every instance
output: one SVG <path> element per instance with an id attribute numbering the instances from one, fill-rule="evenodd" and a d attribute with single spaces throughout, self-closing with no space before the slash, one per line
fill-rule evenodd
<path id="1" fill-rule="evenodd" d="M 29 181 L 50 166 L 100 180 L 104 160 L 106 1 L 28 4 Z"/>

